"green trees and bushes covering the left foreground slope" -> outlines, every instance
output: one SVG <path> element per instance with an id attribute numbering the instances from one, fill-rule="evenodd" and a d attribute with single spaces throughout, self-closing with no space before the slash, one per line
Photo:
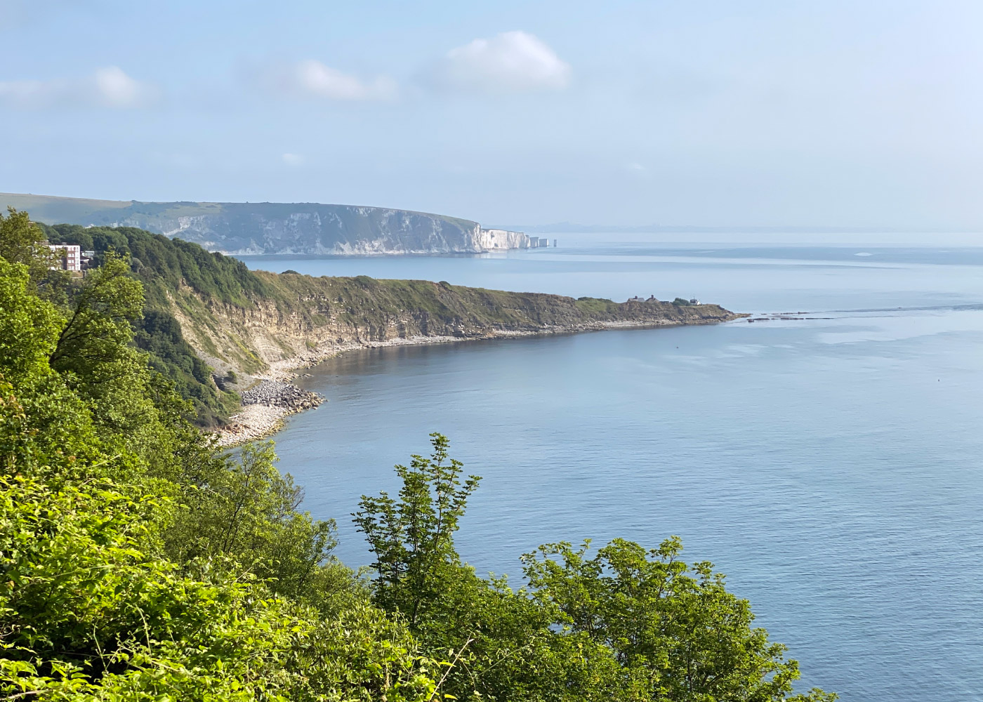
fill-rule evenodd
<path id="1" fill-rule="evenodd" d="M 60 310 L 0 260 L 0 329 L 30 331 L 0 355 L 0 695 L 434 699 L 440 664 L 329 560 L 270 447 L 215 455 L 154 379 L 121 263 Z"/>

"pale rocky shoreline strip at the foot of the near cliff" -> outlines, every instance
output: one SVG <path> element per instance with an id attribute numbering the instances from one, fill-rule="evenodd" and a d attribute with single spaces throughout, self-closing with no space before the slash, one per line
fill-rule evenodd
<path id="1" fill-rule="evenodd" d="M 733 315 L 730 319 L 747 317 Z M 604 329 L 655 328 L 660 326 L 688 326 L 693 324 L 713 324 L 728 320 L 706 320 L 693 322 L 598 322 L 577 326 L 547 327 L 529 330 L 496 330 L 492 334 L 475 336 L 408 336 L 386 339 L 385 341 L 353 341 L 327 343 L 303 351 L 291 358 L 275 361 L 257 382 L 241 393 L 243 409 L 229 418 L 229 424 L 217 432 L 219 446 L 236 446 L 276 434 L 283 428 L 288 415 L 312 409 L 323 403 L 324 397 L 317 392 L 305 390 L 289 380 L 297 377 L 294 371 L 311 368 L 318 363 L 333 358 L 346 351 L 388 346 L 420 346 L 426 344 L 445 344 L 459 341 L 478 341 L 485 339 L 517 338 L 525 336 L 544 336 L 552 334 L 571 334 L 583 331 L 602 331 Z"/>

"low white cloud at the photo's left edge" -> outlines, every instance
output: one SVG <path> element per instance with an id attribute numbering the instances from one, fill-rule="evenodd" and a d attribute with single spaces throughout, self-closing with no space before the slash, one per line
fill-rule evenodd
<path id="1" fill-rule="evenodd" d="M 76 79 L 0 81 L 0 104 L 21 108 L 144 107 L 158 96 L 156 87 L 131 78 L 118 66 L 100 68 Z"/>

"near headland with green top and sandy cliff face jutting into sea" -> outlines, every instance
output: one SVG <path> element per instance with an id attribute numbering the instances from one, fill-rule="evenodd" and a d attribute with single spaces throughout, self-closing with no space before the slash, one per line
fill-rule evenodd
<path id="1" fill-rule="evenodd" d="M 251 271 L 196 244 L 127 227 L 56 225 L 48 236 L 131 256 L 146 294 L 138 343 L 195 400 L 206 425 L 221 423 L 237 406 L 234 390 L 250 375 L 348 348 L 420 337 L 491 338 L 734 317 L 718 305 L 615 303 L 425 280 Z"/>

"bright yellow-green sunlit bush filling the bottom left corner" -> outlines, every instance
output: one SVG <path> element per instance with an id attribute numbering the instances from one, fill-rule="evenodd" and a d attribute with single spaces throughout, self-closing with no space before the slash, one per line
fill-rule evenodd
<path id="1" fill-rule="evenodd" d="M 0 479 L 0 695 L 434 699 L 440 667 L 373 608 L 322 619 L 248 572 L 183 576 L 157 551 L 170 508 L 104 480 Z"/>

